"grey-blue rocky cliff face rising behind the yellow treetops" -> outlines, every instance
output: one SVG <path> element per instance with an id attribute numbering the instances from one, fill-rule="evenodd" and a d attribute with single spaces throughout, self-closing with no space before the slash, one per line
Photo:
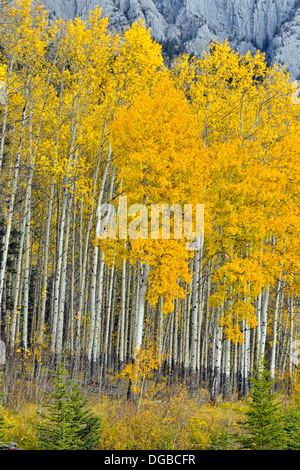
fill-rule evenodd
<path id="1" fill-rule="evenodd" d="M 300 76 L 300 0 L 43 0 L 53 15 L 86 19 L 96 5 L 116 30 L 139 18 L 159 41 L 184 44 L 196 55 L 213 40 L 240 52 L 260 49 Z"/>

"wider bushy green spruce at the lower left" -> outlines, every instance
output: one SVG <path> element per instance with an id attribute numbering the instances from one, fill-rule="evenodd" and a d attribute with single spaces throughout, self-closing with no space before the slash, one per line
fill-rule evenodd
<path id="1" fill-rule="evenodd" d="M 59 365 L 53 381 L 50 400 L 42 403 L 37 424 L 41 449 L 91 450 L 101 436 L 101 419 L 87 409 L 87 399 L 80 386 L 68 382 L 66 371 Z"/>

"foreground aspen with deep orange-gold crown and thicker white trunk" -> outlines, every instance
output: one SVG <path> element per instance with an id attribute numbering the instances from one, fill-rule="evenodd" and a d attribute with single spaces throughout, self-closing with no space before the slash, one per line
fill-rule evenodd
<path id="1" fill-rule="evenodd" d="M 161 133 L 161 129 L 158 127 L 157 130 L 156 129 L 151 129 L 149 128 L 149 131 L 146 130 L 147 128 L 143 127 L 141 128 L 142 132 L 146 133 L 146 132 L 149 132 L 149 134 L 147 135 L 147 138 L 148 138 L 148 143 L 149 143 L 149 148 L 145 147 L 145 144 L 144 144 L 144 141 L 142 139 L 142 136 L 140 137 L 140 144 L 143 145 L 143 148 L 142 146 L 140 148 L 137 148 L 136 147 L 136 144 L 135 142 L 126 142 L 126 139 L 128 138 L 128 131 L 126 130 L 126 128 L 128 128 L 128 124 L 132 127 L 132 132 L 138 132 L 138 128 L 134 129 L 133 126 L 136 126 L 135 122 L 138 122 L 139 119 L 141 120 L 145 120 L 145 117 L 150 113 L 150 109 L 152 108 L 153 109 L 153 106 L 155 106 L 155 100 L 156 99 L 161 99 L 161 96 L 159 93 L 160 93 L 160 90 L 159 88 L 161 88 L 161 83 L 164 83 L 165 82 L 165 85 L 164 86 L 167 86 L 169 87 L 170 90 L 172 90 L 171 88 L 171 83 L 169 82 L 168 83 L 168 78 L 167 77 L 162 77 L 162 81 L 158 82 L 158 84 L 156 85 L 157 86 L 157 91 L 156 91 L 156 94 L 157 94 L 157 97 L 154 96 L 152 97 L 151 95 L 149 96 L 148 98 L 148 101 L 145 101 L 145 97 L 143 97 L 143 101 L 141 102 L 141 98 L 138 98 L 138 101 L 136 101 L 136 103 L 132 104 L 130 108 L 128 109 L 125 109 L 124 110 L 120 110 L 118 113 L 117 113 L 117 117 L 116 119 L 114 120 L 114 123 L 113 123 L 113 140 L 112 140 L 112 146 L 113 146 L 113 149 L 114 149 L 114 152 L 116 153 L 117 155 L 117 159 L 116 159 L 116 165 L 118 168 L 120 168 L 120 177 L 122 178 L 122 182 L 123 182 L 123 185 L 124 187 L 127 189 L 127 191 L 129 191 L 127 194 L 130 196 L 130 201 L 131 200 L 134 200 L 134 197 L 136 197 L 136 200 L 139 200 L 139 201 L 147 201 L 147 204 L 149 204 L 151 201 L 157 201 L 158 198 L 162 198 L 164 195 L 166 197 L 165 201 L 174 201 L 176 199 L 173 199 L 173 197 L 180 197 L 181 195 L 178 194 L 178 196 L 176 195 L 176 193 L 173 195 L 172 193 L 170 193 L 170 189 L 169 189 L 169 184 L 167 183 L 167 180 L 164 180 L 163 178 L 164 177 L 164 174 L 161 173 L 161 170 L 162 170 L 162 166 L 161 166 L 161 160 L 157 157 L 158 154 L 161 153 L 161 151 L 163 151 L 165 154 L 166 154 L 166 158 L 167 157 L 167 152 L 170 152 L 171 151 L 171 148 L 173 147 L 174 150 L 173 152 L 176 152 L 176 151 L 179 151 L 179 148 L 178 150 L 176 150 L 176 147 L 174 147 L 174 143 L 171 142 L 171 140 L 168 142 L 168 146 L 165 146 L 165 144 L 161 144 L 163 145 L 160 146 L 160 147 L 157 147 L 155 148 L 153 146 L 153 143 L 151 141 L 151 133 L 153 133 L 153 135 L 159 135 L 158 133 Z M 155 93 L 155 91 L 154 91 Z M 172 90 L 172 93 L 174 93 L 174 91 Z M 176 96 L 176 92 L 174 94 L 174 104 L 172 103 L 172 101 L 170 101 L 170 94 L 168 96 L 168 103 L 167 103 L 167 109 L 169 109 L 169 111 L 167 111 L 168 113 L 170 113 L 170 117 L 171 119 L 173 119 L 175 121 L 175 119 L 177 119 L 178 116 L 175 117 L 175 114 L 173 114 L 173 110 L 172 110 L 172 107 L 173 106 L 177 106 L 177 109 L 178 108 L 178 104 L 179 104 L 179 100 L 180 99 L 180 93 L 178 94 L 178 97 Z M 177 100 L 177 101 L 176 101 Z M 141 103 L 142 104 L 142 107 L 141 107 Z M 178 103 L 178 104 L 177 104 Z M 144 107 L 147 106 L 148 107 L 148 110 L 146 111 L 146 109 L 144 109 Z M 161 120 L 163 119 L 163 116 L 164 116 L 164 113 L 166 113 L 166 110 L 163 111 L 163 108 L 159 107 L 159 108 L 156 108 L 157 111 L 159 113 L 162 113 L 162 116 L 158 116 L 158 126 L 160 126 L 160 122 Z M 171 114 L 172 113 L 172 114 Z M 130 119 L 129 119 L 129 116 L 132 116 Z M 185 124 L 183 124 L 183 119 L 187 119 L 187 117 L 183 117 L 182 116 L 182 121 L 178 121 L 178 124 L 181 126 L 183 125 L 183 127 L 186 129 L 185 127 Z M 165 121 L 166 122 L 166 125 L 167 126 L 172 126 L 172 121 Z M 122 123 L 122 125 L 121 125 Z M 146 124 L 146 123 L 145 123 Z M 147 123 L 148 124 L 148 123 Z M 176 125 L 178 125 L 177 122 L 176 122 Z M 174 126 L 174 125 L 173 125 Z M 183 127 L 182 127 L 182 130 L 180 130 L 179 134 L 180 136 L 183 135 Z M 124 137 L 123 137 L 123 134 L 120 133 L 120 128 L 123 128 L 124 129 Z M 171 129 L 171 127 L 168 127 L 168 130 L 167 132 L 169 132 L 169 129 Z M 126 133 L 125 133 L 126 132 Z M 185 131 L 186 132 L 186 131 Z M 188 138 L 188 137 L 187 137 Z M 191 146 L 191 140 L 189 140 L 190 144 L 189 146 Z M 135 150 L 133 149 L 133 144 L 135 145 Z M 179 142 L 178 142 L 179 144 Z M 131 146 L 132 150 L 131 150 L 131 153 L 129 153 L 128 157 L 130 156 L 130 162 L 131 162 L 131 165 L 129 166 L 127 164 L 127 166 L 125 166 L 125 161 L 124 161 L 124 164 L 122 166 L 120 166 L 123 162 L 121 160 L 121 155 L 122 155 L 122 150 L 123 148 L 126 148 L 127 152 L 128 152 L 128 149 L 129 149 L 129 145 Z M 175 144 L 176 145 L 176 144 Z M 179 144 L 180 147 L 182 144 Z M 163 150 L 162 150 L 163 149 Z M 130 151 L 130 150 L 129 150 Z M 180 149 L 181 151 L 181 155 L 183 155 L 183 152 L 184 152 L 184 147 L 182 147 Z M 143 157 L 143 155 L 145 155 L 145 157 Z M 149 155 L 151 155 L 151 171 L 154 173 L 150 173 L 149 171 L 145 171 L 144 167 L 147 166 L 147 163 L 146 163 L 146 155 L 147 155 L 147 158 L 149 158 Z M 123 157 L 124 158 L 124 157 Z M 144 158 L 144 159 L 143 159 Z M 161 158 L 161 157 L 160 157 Z M 172 157 L 171 157 L 172 158 Z M 171 162 L 170 162 L 171 163 Z M 186 164 L 186 162 L 184 162 Z M 169 171 L 172 171 L 175 175 L 175 171 L 177 172 L 178 174 L 178 177 L 179 178 L 183 178 L 181 176 L 181 173 L 180 171 L 183 171 L 184 173 L 186 173 L 186 171 L 188 171 L 187 168 L 185 168 L 183 165 L 181 165 L 180 168 L 178 168 L 178 165 L 180 164 L 180 162 L 176 162 L 174 160 L 174 158 L 172 158 L 172 165 L 174 166 L 174 164 L 177 165 L 174 166 L 174 167 L 171 167 L 170 164 L 167 164 L 167 160 L 165 160 L 165 165 L 168 166 L 168 169 Z M 140 186 L 135 186 L 135 184 L 138 184 L 138 181 L 136 181 L 135 183 L 135 180 L 132 179 L 132 176 L 135 175 L 135 179 L 138 179 L 138 180 L 142 180 L 144 181 L 143 183 L 143 189 L 140 187 Z M 155 179 L 154 179 L 154 175 L 155 175 L 155 179 L 158 178 L 158 184 L 156 183 Z M 149 180 L 148 180 L 149 178 Z M 172 181 L 172 180 L 169 180 L 169 181 Z M 128 184 L 130 184 L 130 186 L 128 186 Z M 176 191 L 176 188 L 173 186 L 173 190 Z M 136 191 L 136 188 L 139 188 L 139 193 L 137 194 L 137 191 Z M 189 190 L 187 190 L 189 191 Z M 155 194 L 155 192 L 157 192 L 157 195 Z M 172 195 L 171 195 L 172 194 Z M 172 198 L 172 199 L 171 199 Z M 177 199 L 178 200 L 178 199 Z M 148 237 L 148 234 L 146 234 L 146 237 Z M 175 242 L 175 240 L 174 240 Z M 166 247 L 166 250 L 167 251 L 170 251 L 170 250 L 173 250 L 174 248 L 176 249 L 177 247 L 179 248 L 180 246 L 180 243 L 174 243 L 173 241 L 170 240 L 170 243 L 165 243 L 164 242 L 164 246 Z M 142 341 L 142 324 L 143 324 L 143 318 L 144 318 L 144 303 L 145 303 L 145 276 L 148 277 L 147 275 L 147 272 L 145 272 L 146 270 L 148 270 L 147 268 L 147 265 L 150 265 L 151 266 L 151 270 L 149 271 L 149 285 L 150 285 L 150 291 L 148 292 L 147 296 L 148 298 L 150 299 L 151 298 L 151 303 L 156 303 L 158 300 L 159 300 L 159 297 L 160 295 L 162 295 L 165 299 L 166 299 L 166 295 L 169 295 L 170 296 L 170 300 L 168 300 L 168 304 L 165 305 L 165 308 L 170 308 L 170 309 L 173 309 L 173 304 L 171 303 L 171 300 L 173 300 L 174 298 L 174 294 L 172 292 L 172 290 L 175 292 L 180 292 L 181 288 L 180 286 L 178 285 L 178 277 L 180 276 L 180 271 L 178 271 L 178 273 L 175 272 L 176 276 L 172 276 L 174 278 L 174 285 L 171 286 L 171 290 L 168 286 L 166 286 L 165 288 L 163 287 L 163 282 L 164 282 L 164 275 L 163 274 L 160 274 L 160 271 L 153 271 L 153 268 L 152 268 L 152 261 L 151 261 L 151 258 L 153 258 L 153 261 L 155 264 L 158 263 L 158 261 L 155 261 L 156 260 L 161 260 L 159 263 L 158 263 L 158 266 L 161 265 L 161 268 L 160 270 L 162 270 L 162 268 L 164 269 L 168 269 L 168 258 L 163 258 L 163 256 L 166 256 L 163 255 L 163 251 L 161 250 L 161 247 L 162 247 L 162 244 L 158 244 L 156 243 L 156 240 L 146 240 L 145 243 L 143 243 L 142 240 L 132 240 L 131 241 L 131 244 L 133 245 L 133 249 L 132 249 L 132 254 L 131 254 L 131 257 L 133 260 L 136 260 L 139 258 L 139 262 L 140 263 L 145 263 L 145 266 L 144 268 L 142 268 L 142 266 L 139 267 L 139 270 L 138 270 L 138 285 L 139 285 L 139 293 L 138 293 L 138 309 L 137 309 L 137 323 L 136 323 L 136 332 L 135 332 L 135 345 L 136 347 L 140 347 L 141 346 L 141 341 Z M 144 248 L 145 247 L 145 248 Z M 153 248 L 152 248 L 153 247 Z M 174 247 L 174 248 L 173 248 Z M 177 250 L 178 250 L 177 248 Z M 155 251 L 153 250 L 158 250 L 157 251 L 157 255 L 155 255 Z M 182 248 L 180 248 L 182 250 Z M 134 250 L 136 250 L 136 252 L 134 252 Z M 151 251 L 150 251 L 151 250 Z M 144 254 L 143 254 L 144 252 Z M 177 251 L 178 253 L 178 251 Z M 160 256 L 160 258 L 158 258 L 158 256 Z M 182 256 L 183 256 L 183 259 L 185 259 L 186 261 L 189 259 L 189 254 L 188 252 L 186 252 L 185 250 L 182 251 Z M 143 261 L 142 261 L 143 260 Z M 166 260 L 166 261 L 165 261 Z M 183 273 L 183 279 L 188 279 L 188 269 L 187 269 L 187 264 L 185 265 L 185 267 L 183 266 L 182 268 L 179 268 L 182 270 L 182 273 Z M 170 277 L 168 279 L 168 281 L 170 282 Z M 189 280 L 190 282 L 190 280 Z M 155 297 L 153 297 L 154 295 L 154 289 L 156 291 L 156 294 L 155 294 Z M 167 294 L 168 290 L 170 290 L 170 294 Z M 164 292 L 165 291 L 165 292 Z M 168 307 L 168 305 L 170 304 L 170 307 Z M 198 312 L 198 310 L 197 310 Z M 197 313 L 198 314 L 198 313 Z M 197 315 L 196 314 L 196 315 Z"/>

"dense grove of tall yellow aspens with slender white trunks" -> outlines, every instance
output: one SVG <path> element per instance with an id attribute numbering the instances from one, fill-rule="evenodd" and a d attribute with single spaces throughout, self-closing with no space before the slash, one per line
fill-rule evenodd
<path id="1" fill-rule="evenodd" d="M 116 34 L 96 10 L 49 24 L 29 0 L 3 9 L 0 52 L 7 367 L 22 357 L 38 377 L 62 356 L 105 381 L 151 351 L 158 373 L 214 399 L 247 395 L 262 354 L 292 385 L 300 123 L 288 74 L 227 43 L 166 67 L 141 23 Z M 119 196 L 149 211 L 203 204 L 204 243 L 98 239 Z"/>

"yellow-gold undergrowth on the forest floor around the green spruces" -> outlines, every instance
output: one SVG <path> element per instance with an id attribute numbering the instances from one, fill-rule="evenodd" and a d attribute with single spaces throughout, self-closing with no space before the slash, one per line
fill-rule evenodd
<path id="1" fill-rule="evenodd" d="M 33 384 L 31 384 L 32 386 Z M 36 423 L 41 395 L 28 393 L 20 380 L 4 408 L 6 441 L 24 450 L 38 450 Z M 87 406 L 102 419 L 99 450 L 212 450 L 235 449 L 232 435 L 242 432 L 246 399 L 220 397 L 212 404 L 207 390 L 193 396 L 182 384 L 149 383 L 143 394 L 127 400 L 127 382 L 113 378 L 101 391 L 87 387 Z M 288 397 L 281 397 L 288 406 Z"/>

